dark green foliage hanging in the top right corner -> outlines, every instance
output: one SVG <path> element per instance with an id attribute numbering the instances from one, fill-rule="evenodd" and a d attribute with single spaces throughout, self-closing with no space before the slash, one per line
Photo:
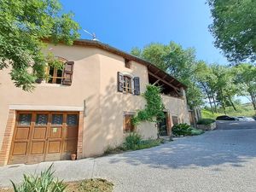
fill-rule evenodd
<path id="1" fill-rule="evenodd" d="M 208 0 L 215 46 L 229 61 L 256 61 L 256 1 Z"/>

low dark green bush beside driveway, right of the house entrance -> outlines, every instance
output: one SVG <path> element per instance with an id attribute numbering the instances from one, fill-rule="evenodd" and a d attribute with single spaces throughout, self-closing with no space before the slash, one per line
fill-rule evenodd
<path id="1" fill-rule="evenodd" d="M 177 124 L 172 126 L 172 133 L 175 136 L 196 136 L 201 135 L 204 131 L 197 130 L 188 124 Z"/>

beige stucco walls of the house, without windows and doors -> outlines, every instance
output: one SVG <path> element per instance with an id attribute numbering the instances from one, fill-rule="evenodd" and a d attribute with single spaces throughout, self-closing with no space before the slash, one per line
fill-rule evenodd
<path id="1" fill-rule="evenodd" d="M 0 71 L 0 149 L 10 105 L 84 108 L 84 100 L 83 157 L 102 154 L 108 145 L 122 143 L 124 113 L 135 113 L 144 108 L 145 101 L 142 96 L 117 91 L 117 72 L 140 77 L 141 92 L 144 92 L 148 84 L 147 67 L 132 61 L 131 69 L 126 68 L 124 58 L 102 49 L 65 45 L 49 47 L 56 56 L 75 61 L 73 84 L 37 84 L 35 90 L 26 92 L 15 87 L 9 69 Z M 189 122 L 185 100 L 163 96 L 163 101 L 171 114 Z M 156 137 L 154 123 L 142 123 L 137 130 L 144 138 Z"/>

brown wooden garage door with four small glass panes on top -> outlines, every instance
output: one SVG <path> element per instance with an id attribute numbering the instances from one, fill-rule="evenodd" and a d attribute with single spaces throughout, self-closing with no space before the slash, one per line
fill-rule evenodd
<path id="1" fill-rule="evenodd" d="M 18 112 L 9 164 L 69 160 L 78 132 L 79 113 Z"/>

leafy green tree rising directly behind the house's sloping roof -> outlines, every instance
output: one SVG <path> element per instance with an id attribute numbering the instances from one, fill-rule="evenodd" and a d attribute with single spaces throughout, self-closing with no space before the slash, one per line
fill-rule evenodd
<path id="1" fill-rule="evenodd" d="M 183 84 L 188 86 L 186 90 L 188 104 L 191 108 L 202 104 L 201 90 L 195 79 L 195 49 L 183 49 L 181 45 L 148 44 L 143 49 L 131 49 L 131 54 L 150 61 L 166 73 L 171 74 Z"/>

